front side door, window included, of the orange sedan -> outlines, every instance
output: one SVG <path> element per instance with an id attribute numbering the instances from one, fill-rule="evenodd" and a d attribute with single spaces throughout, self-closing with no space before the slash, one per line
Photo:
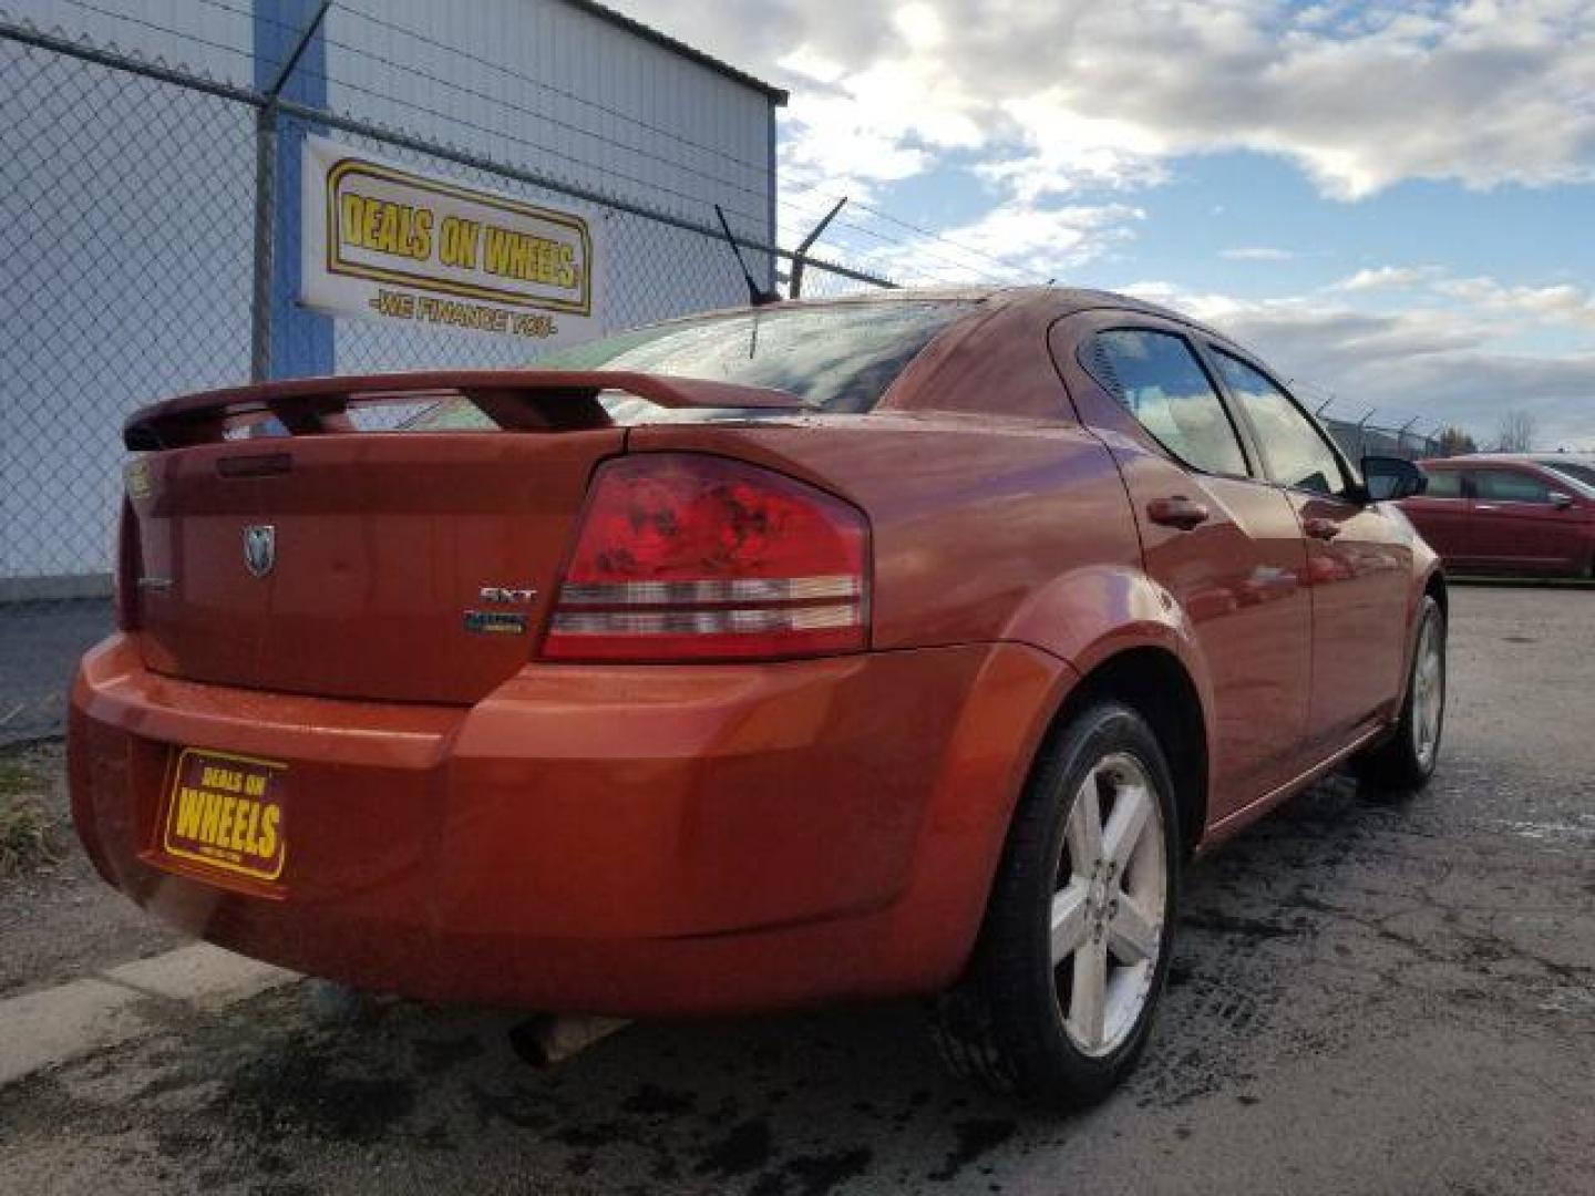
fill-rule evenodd
<path id="1" fill-rule="evenodd" d="M 1412 542 L 1394 504 L 1359 501 L 1329 435 L 1262 365 L 1207 344 L 1217 375 L 1306 536 L 1313 595 L 1309 737 L 1348 743 L 1400 692 Z"/>

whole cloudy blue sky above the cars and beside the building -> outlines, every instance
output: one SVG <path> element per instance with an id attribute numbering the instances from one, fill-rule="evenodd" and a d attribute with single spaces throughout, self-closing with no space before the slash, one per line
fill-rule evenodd
<path id="1" fill-rule="evenodd" d="M 847 195 L 837 260 L 1129 292 L 1333 415 L 1595 451 L 1595 0 L 616 6 L 791 91 L 782 244 Z"/>

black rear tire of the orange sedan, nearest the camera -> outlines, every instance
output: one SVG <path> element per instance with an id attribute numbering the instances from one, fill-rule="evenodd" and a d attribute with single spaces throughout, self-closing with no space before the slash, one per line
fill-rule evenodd
<path id="1" fill-rule="evenodd" d="M 1112 952 L 1118 952 L 1121 942 L 1118 922 L 1107 931 L 1113 946 L 1102 949 L 1110 952 L 1104 955 L 1109 960 L 1104 974 L 1132 976 L 1140 1005 L 1132 1022 L 1128 1013 L 1120 1017 L 1121 1027 L 1129 1024 L 1128 1032 L 1121 1029 L 1121 1037 L 1115 1038 L 1104 1035 L 1105 1049 L 1093 1054 L 1077 1045 L 1073 1030 L 1065 1029 L 1072 1000 L 1072 992 L 1065 989 L 1072 990 L 1077 973 L 1072 962 L 1053 963 L 1051 920 L 1054 895 L 1064 896 L 1061 877 L 1085 866 L 1081 861 L 1081 869 L 1075 867 L 1073 848 L 1065 845 L 1077 797 L 1093 770 L 1104 765 L 1105 773 L 1099 777 L 1105 780 L 1094 781 L 1093 793 L 1105 794 L 1097 807 L 1107 810 L 1101 820 L 1104 831 L 1099 842 L 1109 844 L 1112 810 L 1120 801 L 1113 791 L 1113 769 L 1121 767 L 1126 759 L 1139 765 L 1136 788 L 1139 793 L 1150 791 L 1160 815 L 1161 858 L 1155 871 L 1163 875 L 1161 922 L 1155 928 L 1145 925 L 1150 931 L 1145 941 L 1156 942 L 1156 957 L 1147 968 L 1112 962 Z M 1140 780 L 1147 783 L 1140 785 Z M 1140 804 L 1139 799 L 1136 804 Z M 1116 882 L 1115 874 L 1107 872 L 1109 888 L 1099 890 L 1093 883 L 1088 890 L 1093 899 L 1107 891 L 1126 896 L 1118 885 L 1129 885 L 1132 871 L 1137 872 L 1137 882 L 1145 880 L 1145 861 L 1153 855 L 1147 839 L 1160 839 L 1150 816 L 1145 828 L 1136 840 L 1140 847 L 1136 848 L 1132 864 L 1123 869 Z M 1129 1073 L 1145 1048 L 1168 979 L 1180 879 L 1179 845 L 1169 765 L 1156 737 L 1136 711 L 1118 702 L 1096 702 L 1054 732 L 1014 810 L 970 968 L 959 987 L 938 998 L 931 1011 L 936 1045 L 949 1067 L 962 1076 L 1038 1105 L 1083 1107 L 1105 1097 Z M 1140 855 L 1142 850 L 1147 855 Z M 1105 853 L 1107 848 L 1099 855 Z M 1075 885 L 1080 880 L 1081 877 L 1073 877 L 1064 883 Z M 1115 919 L 1116 896 L 1112 906 Z M 1104 901 L 1093 901 L 1088 909 L 1102 911 L 1104 906 Z M 1089 925 L 1097 933 L 1091 941 L 1099 942 L 1104 923 Z M 1089 950 L 1086 942 L 1081 942 L 1080 950 Z M 1110 990 L 1112 984 L 1104 987 Z M 1139 995 L 1142 992 L 1145 995 Z M 1109 998 L 1104 997 L 1102 1006 L 1107 1003 Z M 1113 1045 L 1109 1048 L 1110 1043 Z"/>

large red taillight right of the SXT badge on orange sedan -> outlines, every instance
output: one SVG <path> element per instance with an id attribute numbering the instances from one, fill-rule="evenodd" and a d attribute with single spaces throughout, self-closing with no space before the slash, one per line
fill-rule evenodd
<path id="1" fill-rule="evenodd" d="M 542 654 L 745 660 L 868 641 L 869 528 L 769 469 L 643 453 L 601 466 Z"/>

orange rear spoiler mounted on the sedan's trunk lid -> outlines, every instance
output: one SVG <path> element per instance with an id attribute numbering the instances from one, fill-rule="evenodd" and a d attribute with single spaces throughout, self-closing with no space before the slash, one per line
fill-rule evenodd
<path id="1" fill-rule="evenodd" d="M 785 391 L 628 370 L 440 370 L 295 378 L 207 391 L 140 407 L 123 424 L 134 451 L 223 440 L 228 431 L 276 419 L 290 435 L 352 432 L 351 407 L 466 399 L 510 432 L 569 432 L 609 427 L 598 395 L 624 391 L 659 407 L 719 407 L 807 411 L 813 405 Z"/>

